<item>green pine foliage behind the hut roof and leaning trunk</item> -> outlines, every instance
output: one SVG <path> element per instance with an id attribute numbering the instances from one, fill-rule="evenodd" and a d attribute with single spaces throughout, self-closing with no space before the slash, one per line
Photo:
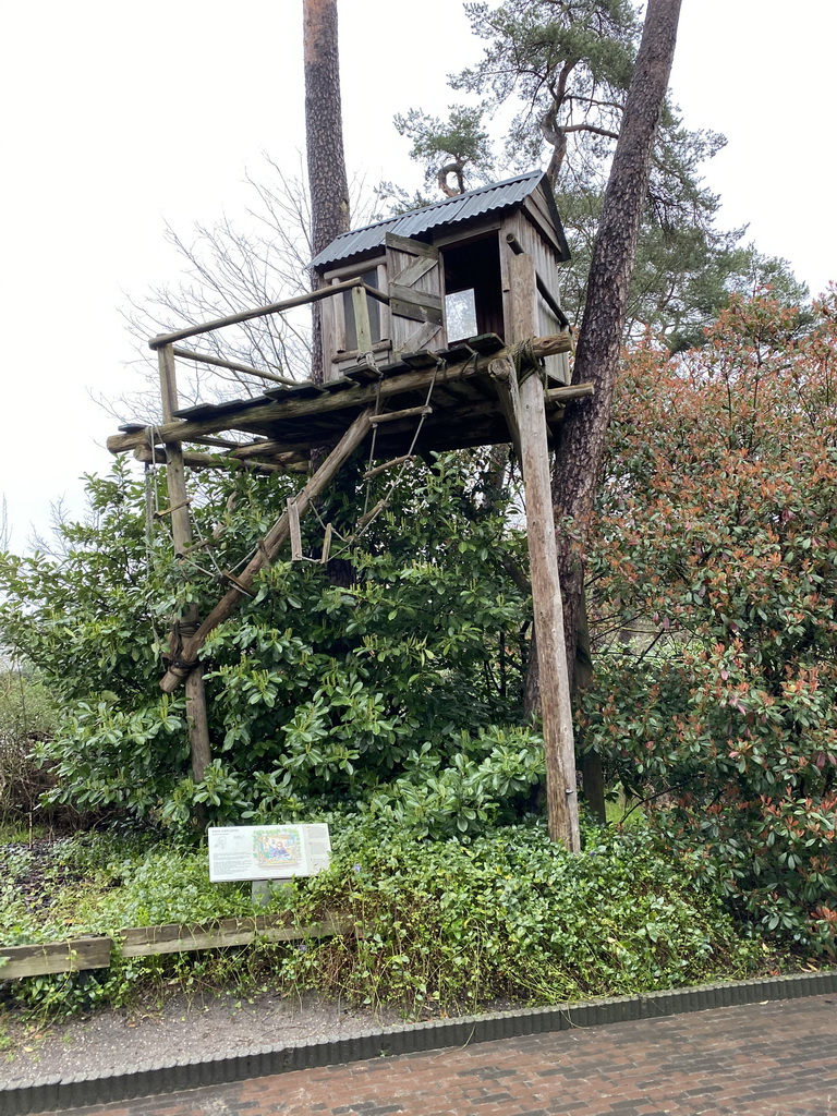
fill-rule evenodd
<path id="1" fill-rule="evenodd" d="M 465 185 L 491 174 L 546 165 L 573 259 L 561 273 L 561 299 L 578 326 L 585 305 L 593 243 L 609 161 L 634 71 L 641 22 L 627 0 L 503 0 L 465 6 L 483 40 L 479 61 L 451 77 L 454 89 L 479 97 L 482 112 L 512 105 L 514 115 L 501 157 L 485 142 L 481 112 L 452 106 L 440 121 L 417 109 L 396 118 L 413 140 L 411 154 L 425 171 L 450 160 Z M 468 128 L 454 126 L 466 121 Z M 479 137 L 479 142 L 477 142 Z M 745 228 L 720 230 L 719 199 L 702 181 L 702 166 L 725 143 L 694 132 L 668 104 L 655 144 L 626 335 L 662 336 L 673 352 L 700 345 L 703 330 L 732 294 L 773 287 L 786 305 L 804 301 L 807 288 L 787 261 L 743 244 Z M 434 162 L 435 161 L 435 162 Z M 403 194 L 389 187 L 403 206 Z M 426 199 L 415 199 L 426 203 Z"/>

